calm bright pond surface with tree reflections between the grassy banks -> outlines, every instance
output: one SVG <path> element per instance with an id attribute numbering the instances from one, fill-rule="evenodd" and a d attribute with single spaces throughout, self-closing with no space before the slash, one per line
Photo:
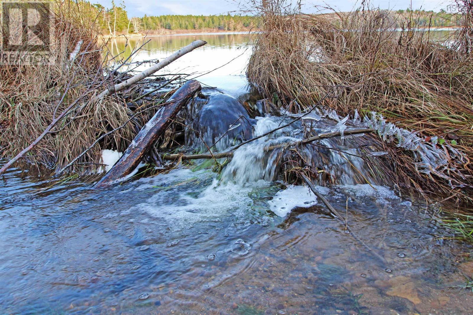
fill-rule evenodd
<path id="1" fill-rule="evenodd" d="M 218 86 L 236 95 L 246 90 L 245 68 L 251 55 L 251 48 L 247 45 L 250 37 L 250 34 L 198 34 L 128 40 L 117 38 L 111 40 L 108 47 L 112 56 L 123 52 L 120 58 L 124 60 L 133 50 L 149 41 L 143 46 L 142 51 L 133 55 L 132 61 L 161 60 L 195 40 L 204 40 L 207 42 L 206 45 L 172 62 L 159 73 L 193 74 L 191 77 L 200 76 L 199 81 L 203 85 Z M 147 66 L 144 65 L 137 70 L 143 70 Z"/>

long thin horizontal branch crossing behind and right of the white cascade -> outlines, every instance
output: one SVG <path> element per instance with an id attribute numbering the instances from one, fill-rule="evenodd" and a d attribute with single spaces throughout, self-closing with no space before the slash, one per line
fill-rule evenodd
<path id="1" fill-rule="evenodd" d="M 345 130 L 343 133 L 344 135 L 359 135 L 359 134 L 366 134 L 366 133 L 371 133 L 375 131 L 375 129 L 368 128 L 368 129 L 355 129 L 355 130 Z M 280 147 L 283 147 L 285 145 L 290 145 L 290 146 L 298 146 L 298 145 L 307 145 L 311 142 L 314 142 L 315 140 L 321 140 L 321 139 L 327 139 L 327 138 L 333 138 L 336 136 L 342 136 L 340 131 L 334 131 L 334 132 L 327 132 L 324 134 L 319 134 L 317 136 L 313 136 L 304 140 L 300 141 L 295 141 L 295 142 L 290 142 L 287 144 L 279 144 L 279 145 L 272 145 L 267 148 L 267 150 L 274 150 Z M 221 158 L 227 158 L 233 155 L 235 150 L 239 148 L 241 145 L 237 145 L 234 148 L 231 148 L 230 150 L 226 152 L 220 152 L 220 153 L 202 153 L 202 154 L 192 154 L 192 155 L 182 155 L 182 154 L 168 154 L 163 156 L 163 160 L 167 161 L 174 161 L 177 159 L 182 159 L 182 160 L 199 160 L 199 159 L 221 159 Z"/>

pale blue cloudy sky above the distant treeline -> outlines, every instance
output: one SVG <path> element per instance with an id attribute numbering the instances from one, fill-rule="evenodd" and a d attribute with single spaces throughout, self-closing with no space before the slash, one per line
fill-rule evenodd
<path id="1" fill-rule="evenodd" d="M 92 3 L 100 3 L 105 7 L 111 7 L 111 0 L 90 0 Z M 121 0 L 115 0 L 119 3 Z M 128 17 L 143 17 L 166 15 L 166 14 L 192 14 L 192 15 L 216 15 L 216 14 L 238 14 L 249 7 L 251 0 L 124 0 Z M 327 3 L 339 11 L 350 11 L 359 6 L 361 1 L 356 0 L 305 0 L 303 9 L 306 13 L 315 13 L 319 9 L 315 6 L 326 6 Z M 381 9 L 426 9 L 440 11 L 447 9 L 453 1 L 441 0 L 372 0 L 372 4 Z"/>

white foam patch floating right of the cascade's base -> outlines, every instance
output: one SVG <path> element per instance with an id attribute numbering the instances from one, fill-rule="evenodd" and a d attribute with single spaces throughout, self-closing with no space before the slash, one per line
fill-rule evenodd
<path id="1" fill-rule="evenodd" d="M 308 187 L 289 186 L 279 191 L 272 200 L 268 201 L 273 213 L 285 217 L 296 207 L 310 207 L 317 203 L 317 197 L 312 194 Z"/>

